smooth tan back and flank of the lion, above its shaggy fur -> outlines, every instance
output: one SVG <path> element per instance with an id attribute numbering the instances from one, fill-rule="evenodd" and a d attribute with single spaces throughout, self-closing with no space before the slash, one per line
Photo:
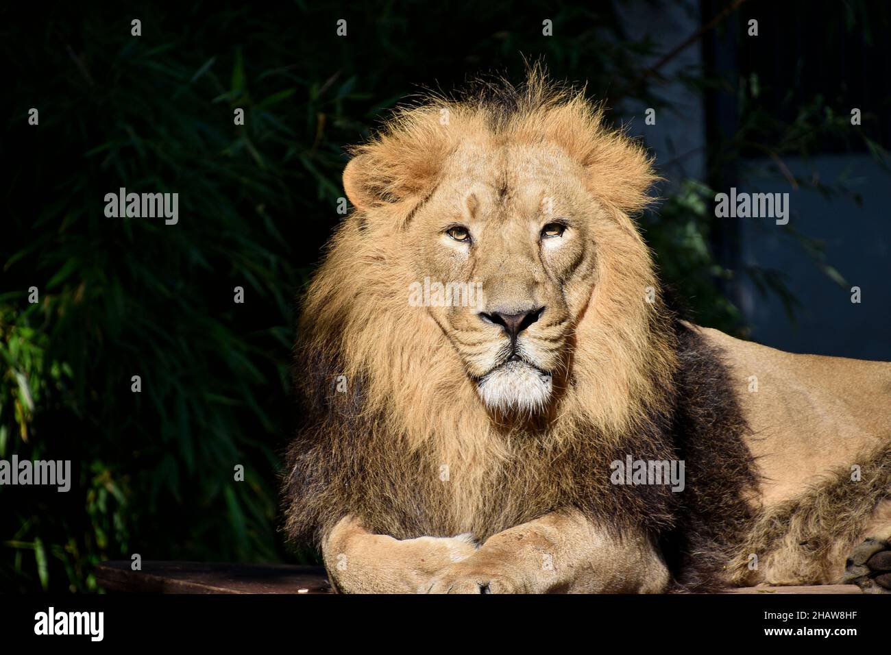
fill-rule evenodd
<path id="1" fill-rule="evenodd" d="M 738 382 L 764 506 L 801 495 L 829 469 L 891 442 L 891 364 L 796 355 L 700 330 L 722 348 Z"/>

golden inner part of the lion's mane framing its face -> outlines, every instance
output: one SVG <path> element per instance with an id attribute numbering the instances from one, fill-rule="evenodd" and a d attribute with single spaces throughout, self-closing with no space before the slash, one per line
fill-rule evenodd
<path id="1" fill-rule="evenodd" d="M 462 143 L 475 149 L 496 149 L 502 143 L 539 147 L 547 139 L 572 153 L 583 174 L 598 173 L 587 178 L 602 204 L 596 216 L 598 291 L 576 326 L 573 381 L 554 410 L 560 421 L 547 430 L 548 452 L 566 457 L 578 447 L 598 447 L 606 455 L 605 446 L 617 449 L 629 432 L 645 434 L 648 408 L 665 404 L 664 389 L 676 365 L 670 337 L 652 328 L 662 320 L 658 304 L 643 302 L 645 290 L 657 287 L 656 277 L 650 253 L 625 213 L 647 200 L 645 190 L 653 180 L 649 160 L 639 146 L 602 127 L 601 111 L 581 94 L 554 89 L 534 75 L 522 102 L 527 106 L 516 112 L 516 119 L 499 122 L 498 116 L 479 111 L 474 101 L 431 100 L 397 112 L 381 135 L 356 149 L 350 168 L 358 170 L 345 179 L 359 211 L 332 239 L 304 302 L 303 352 L 318 356 L 338 350 L 327 386 L 332 390 L 336 375 L 345 376 L 352 389 L 361 386 L 362 416 L 374 418 L 368 442 L 380 438 L 381 455 L 394 447 L 394 439 L 395 447 L 409 454 L 429 449 L 430 468 L 421 474 L 434 485 L 432 495 L 443 487 L 440 466 L 448 466 L 454 484 L 447 487 L 452 494 L 444 502 L 451 507 L 449 516 L 437 519 L 437 533 L 485 536 L 502 527 L 502 521 L 481 524 L 492 511 L 481 506 L 486 486 L 497 479 L 493 471 L 523 464 L 513 449 L 530 447 L 516 435 L 523 426 L 493 421 L 479 402 L 439 323 L 424 308 L 406 303 L 405 290 L 425 272 L 412 266 L 414 244 L 394 235 L 437 186 L 437 164 L 454 156 Z M 448 126 L 440 124 L 442 109 L 449 113 Z M 364 190 L 357 190 L 357 184 Z M 380 195 L 370 196 L 368 188 Z M 446 199 L 456 205 L 462 201 Z M 337 403 L 349 395 L 334 392 L 331 397 Z M 580 446 L 584 432 L 592 431 L 580 428 L 582 423 L 597 429 L 593 439 L 613 443 Z M 414 479 L 417 473 L 410 477 L 423 487 L 423 479 Z M 608 480 L 603 483 L 609 485 Z M 547 503 L 550 483 L 529 479 L 527 484 L 542 487 L 537 498 Z M 518 497 L 516 502 L 527 500 Z M 387 528 L 388 534 L 399 531 L 397 526 Z"/>

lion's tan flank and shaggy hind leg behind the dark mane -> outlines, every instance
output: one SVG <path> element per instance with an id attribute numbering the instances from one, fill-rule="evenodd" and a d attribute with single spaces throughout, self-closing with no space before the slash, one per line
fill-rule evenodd
<path id="1" fill-rule="evenodd" d="M 854 545 L 891 537 L 891 364 L 702 332 L 725 353 L 760 479 L 760 520 L 739 557 L 761 564 L 737 561 L 733 581 L 838 582 Z"/>

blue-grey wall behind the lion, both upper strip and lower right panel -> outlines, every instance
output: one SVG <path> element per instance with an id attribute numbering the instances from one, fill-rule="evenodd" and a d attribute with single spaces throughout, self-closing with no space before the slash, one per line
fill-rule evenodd
<path id="1" fill-rule="evenodd" d="M 668 52 L 700 25 L 699 3 L 652 4 L 643 0 L 617 3 L 628 37 L 650 37 L 658 51 Z M 650 61 L 648 63 L 653 63 Z M 702 51 L 693 45 L 666 64 L 671 78 L 702 64 Z M 656 154 L 657 167 L 668 178 L 665 193 L 684 177 L 705 176 L 705 109 L 702 97 L 683 84 L 659 87 L 668 107 L 657 113 L 657 124 L 643 122 L 642 104 L 626 103 L 623 119 L 629 132 L 642 135 Z M 768 218 L 727 218 L 740 221 L 744 265 L 776 269 L 799 301 L 790 320 L 774 296 L 764 298 L 744 281 L 741 309 L 752 326 L 753 340 L 791 352 L 861 357 L 891 361 L 891 175 L 866 154 L 826 155 L 810 161 L 784 160 L 797 176 L 819 176 L 827 183 L 844 177 L 859 192 L 862 206 L 847 198 L 828 199 L 813 191 L 795 191 L 772 163 L 742 162 L 739 191 L 789 192 L 788 227 L 821 240 L 825 263 L 846 281 L 839 286 L 821 270 L 796 239 Z M 729 189 L 718 189 L 729 192 Z M 851 287 L 861 288 L 861 303 L 851 302 Z"/>

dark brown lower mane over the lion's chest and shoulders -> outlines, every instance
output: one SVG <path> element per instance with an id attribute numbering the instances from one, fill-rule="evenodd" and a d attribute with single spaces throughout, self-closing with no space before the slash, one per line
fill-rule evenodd
<path id="1" fill-rule="evenodd" d="M 752 520 L 745 498 L 757 484 L 742 441 L 746 424 L 720 353 L 682 323 L 674 323 L 674 336 L 682 363 L 674 389 L 662 389 L 664 405 L 624 441 L 601 439 L 593 426 L 579 425 L 576 442 L 558 450 L 546 430 L 505 430 L 511 459 L 489 471 L 485 510 L 473 526 L 478 540 L 574 506 L 618 534 L 631 526 L 648 529 L 673 572 L 675 591 L 725 584 L 723 568 Z M 304 346 L 298 352 L 305 422 L 287 456 L 289 536 L 317 546 L 347 512 L 372 532 L 396 538 L 453 536 L 466 528 L 454 525 L 445 486 L 431 475 L 439 465 L 434 454 L 402 449 L 404 439 L 364 411 L 361 382 L 347 393 L 336 390 L 343 367 L 336 343 L 327 343 L 324 351 Z M 684 491 L 612 485 L 609 463 L 626 454 L 683 459 Z"/>

